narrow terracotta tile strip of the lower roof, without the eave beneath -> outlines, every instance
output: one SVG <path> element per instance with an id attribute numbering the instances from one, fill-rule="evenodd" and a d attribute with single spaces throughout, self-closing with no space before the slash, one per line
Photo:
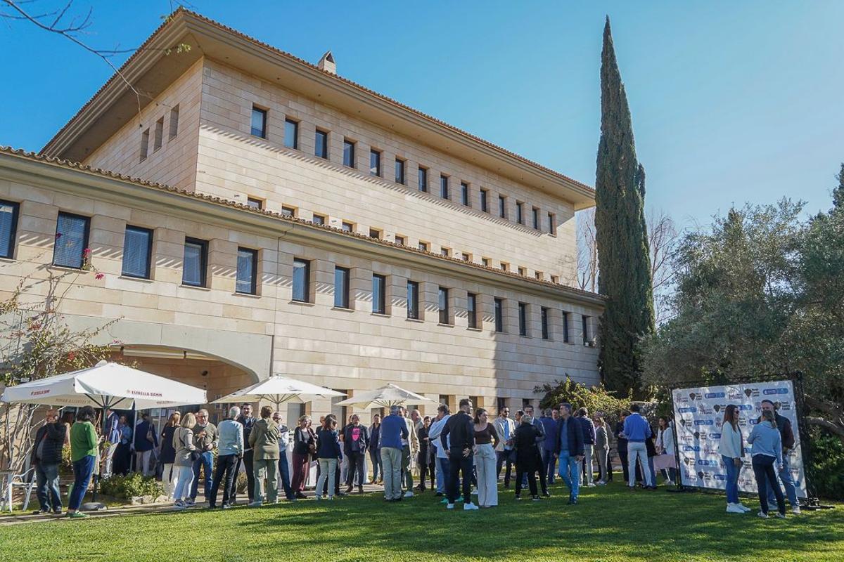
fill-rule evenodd
<path id="1" fill-rule="evenodd" d="M 146 179 L 141 179 L 141 178 L 133 178 L 131 176 L 124 175 L 124 174 L 117 174 L 116 172 L 111 172 L 109 170 L 100 169 L 100 168 L 93 168 L 91 166 L 87 166 L 87 165 L 82 164 L 82 163 L 63 160 L 62 158 L 53 158 L 53 157 L 44 156 L 44 155 L 41 155 L 41 154 L 30 153 L 30 152 L 27 152 L 27 151 L 20 149 L 20 148 L 4 147 L 4 146 L 0 146 L 0 154 L 8 154 L 9 156 L 14 156 L 14 157 L 18 157 L 18 158 L 26 158 L 28 160 L 33 160 L 33 161 L 41 162 L 41 163 L 48 163 L 48 164 L 51 164 L 51 165 L 54 165 L 54 166 L 59 166 L 61 168 L 76 169 L 76 170 L 79 170 L 81 172 L 97 174 L 97 175 L 100 175 L 100 176 L 103 176 L 103 177 L 106 177 L 106 178 L 120 179 L 122 181 L 130 182 L 134 185 L 142 185 L 143 187 L 147 187 L 147 188 L 154 189 L 154 190 L 169 191 L 170 193 L 176 193 L 178 195 L 182 195 L 182 196 L 185 196 L 185 197 L 191 197 L 191 198 L 197 199 L 197 200 L 208 201 L 209 203 L 214 203 L 215 205 L 230 206 L 230 207 L 234 207 L 236 209 L 239 209 L 241 211 L 250 212 L 250 213 L 253 213 L 253 214 L 256 214 L 256 215 L 263 215 L 265 217 L 273 217 L 275 219 L 285 221 L 285 222 L 295 222 L 295 223 L 299 223 L 301 225 L 304 225 L 306 227 L 319 228 L 319 229 L 322 229 L 322 230 L 327 230 L 327 231 L 331 231 L 333 233 L 340 234 L 342 236 L 348 236 L 348 237 L 352 237 L 352 238 L 360 238 L 361 240 L 365 240 L 366 242 L 368 242 L 370 244 L 381 244 L 382 246 L 392 246 L 393 248 L 402 249 L 403 251 L 406 251 L 406 252 L 412 252 L 414 254 L 424 254 L 424 255 L 427 255 L 430 258 L 434 258 L 436 260 L 450 261 L 450 262 L 453 262 L 455 264 L 460 264 L 460 265 L 463 265 L 463 266 L 466 266 L 466 267 L 472 267 L 472 268 L 477 269 L 477 270 L 487 270 L 487 271 L 490 271 L 492 273 L 495 273 L 496 275 L 511 277 L 513 279 L 518 279 L 518 280 L 521 280 L 521 281 L 529 281 L 529 282 L 537 284 L 539 286 L 555 287 L 555 288 L 561 289 L 565 292 L 570 292 L 572 295 L 576 295 L 578 297 L 602 298 L 600 295 L 598 295 L 598 293 L 583 291 L 582 289 L 576 289 L 575 287 L 560 285 L 559 283 L 552 283 L 550 281 L 540 281 L 540 280 L 535 279 L 533 277 L 520 276 L 517 273 L 512 273 L 510 271 L 497 270 L 497 269 L 494 269 L 492 267 L 486 267 L 484 265 L 475 264 L 471 261 L 459 260 L 457 258 L 452 258 L 452 257 L 449 257 L 449 256 L 436 254 L 434 252 L 426 252 L 426 251 L 416 249 L 416 248 L 412 248 L 412 247 L 409 247 L 409 246 L 403 246 L 401 244 L 395 244 L 393 242 L 388 242 L 387 240 L 381 240 L 379 238 L 370 238 L 369 236 L 366 236 L 365 234 L 349 233 L 349 232 L 346 232 L 346 231 L 344 231 L 340 228 L 329 227 L 327 225 L 314 224 L 313 222 L 306 221 L 306 220 L 296 218 L 296 217 L 289 217 L 289 216 L 284 215 L 284 214 L 279 213 L 279 212 L 268 211 L 267 209 L 255 209 L 254 207 L 247 206 L 247 205 L 240 203 L 238 201 L 231 201 L 231 200 L 225 199 L 223 197 L 217 197 L 215 195 L 207 195 L 207 194 L 203 194 L 203 193 L 197 193 L 195 191 L 182 190 L 182 189 L 179 189 L 177 187 L 172 187 L 170 185 L 160 184 L 160 183 L 157 183 L 157 182 L 152 182 L 152 181 L 149 181 L 149 180 L 146 180 Z"/>

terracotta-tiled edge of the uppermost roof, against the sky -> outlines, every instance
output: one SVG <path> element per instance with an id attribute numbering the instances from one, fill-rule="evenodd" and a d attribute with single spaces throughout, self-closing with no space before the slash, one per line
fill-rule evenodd
<path id="1" fill-rule="evenodd" d="M 329 77 L 329 78 L 332 78 L 332 79 L 334 79 L 334 80 L 339 80 L 340 82 L 343 82 L 343 83 L 349 84 L 349 86 L 352 86 L 352 87 L 354 87 L 354 88 L 358 88 L 358 89 L 360 89 L 361 91 L 365 92 L 366 94 L 370 94 L 370 95 L 372 95 L 372 96 L 375 96 L 376 98 L 379 98 L 379 99 L 382 99 L 382 100 L 384 100 L 384 101 L 387 101 L 387 102 L 389 102 L 389 103 L 391 103 L 391 104 L 394 104 L 394 105 L 396 105 L 396 106 L 398 106 L 398 107 L 402 108 L 403 110 L 406 110 L 406 111 L 409 111 L 409 112 L 413 113 L 414 115 L 418 115 L 419 117 L 422 117 L 422 118 L 424 118 L 424 119 L 426 119 L 426 120 L 433 121 L 433 122 L 435 122 L 436 124 L 438 124 L 438 125 L 440 125 L 440 126 L 444 126 L 444 127 L 446 127 L 447 129 L 450 129 L 451 131 L 454 131 L 454 132 L 459 133 L 460 135 L 466 136 L 466 137 L 468 137 L 468 138 L 472 139 L 472 140 L 473 140 L 473 141 L 475 141 L 475 142 L 480 142 L 480 143 L 484 144 L 484 145 L 485 145 L 485 146 L 487 146 L 487 147 L 490 147 L 490 148 L 493 148 L 494 150 L 500 151 L 501 153 L 506 153 L 507 155 L 511 156 L 512 158 L 517 158 L 518 160 L 522 161 L 522 163 L 526 163 L 526 164 L 528 164 L 528 165 L 530 165 L 530 166 L 533 166 L 534 168 L 541 169 L 541 170 L 543 170 L 544 172 L 547 172 L 547 173 L 549 173 L 549 174 L 555 175 L 555 176 L 556 176 L 557 178 L 559 178 L 559 179 L 564 179 L 565 181 L 571 182 L 572 184 L 577 185 L 578 187 L 580 187 L 580 188 L 582 188 L 582 189 L 589 190 L 589 191 L 591 191 L 592 193 L 594 193 L 594 189 L 593 189 L 591 186 L 586 185 L 586 184 L 584 184 L 584 183 L 582 183 L 582 182 L 580 182 L 580 181 L 577 181 L 576 179 L 572 179 L 572 178 L 570 178 L 569 176 L 567 176 L 567 175 L 565 175 L 565 174 L 560 174 L 560 172 L 558 172 L 558 171 L 556 171 L 556 170 L 554 170 L 554 169 L 550 169 L 550 168 L 548 168 L 548 167 L 546 167 L 546 166 L 543 166 L 543 165 L 542 165 L 542 164 L 540 164 L 540 163 L 533 162 L 533 160 L 529 160 L 528 158 L 524 158 L 523 156 L 520 156 L 520 155 L 518 155 L 517 153 L 513 153 L 513 152 L 511 152 L 511 151 L 507 150 L 506 148 L 504 148 L 504 147 L 500 147 L 500 146 L 498 146 L 498 145 L 496 145 L 496 144 L 494 144 L 494 143 L 492 143 L 492 142 L 485 141 L 484 139 L 482 139 L 482 138 L 481 138 L 481 137 L 479 137 L 479 136 L 475 136 L 475 135 L 473 135 L 473 134 L 471 134 L 471 133 L 469 133 L 469 132 L 467 132 L 467 131 L 463 131 L 462 129 L 459 129 L 459 128 L 457 128 L 456 126 L 449 125 L 449 124 L 448 124 L 448 123 L 446 123 L 445 121 L 443 121 L 443 120 L 439 120 L 439 119 L 436 119 L 436 117 L 432 117 L 431 115 L 427 115 L 427 114 L 423 113 L 422 111 L 415 110 L 414 108 L 410 107 L 409 105 L 402 104 L 401 102 L 398 102 L 398 101 L 396 101 L 395 99 L 389 98 L 389 97 L 387 97 L 387 96 L 385 96 L 385 95 L 383 95 L 383 94 L 379 94 L 378 92 L 376 92 L 376 91 L 374 91 L 374 90 L 371 90 L 370 88 L 366 88 L 365 86 L 362 86 L 362 85 L 360 85 L 359 83 L 355 83 L 355 82 L 353 82 L 353 81 L 349 80 L 348 78 L 343 78 L 342 76 L 338 76 L 337 74 L 334 74 L 333 72 L 327 72 L 327 71 L 324 71 L 324 70 L 320 69 L 319 67 L 317 67 L 317 65 L 314 65 L 314 64 L 312 64 L 311 62 L 307 62 L 306 60 L 301 59 L 301 58 L 300 58 L 300 57 L 298 57 L 298 56 L 291 55 L 289 52 L 286 52 L 286 51 L 281 51 L 280 49 L 278 49 L 278 48 L 276 48 L 276 47 L 273 47 L 273 45 L 268 45 L 267 43 L 264 43 L 264 42 L 262 42 L 262 41 L 259 41 L 259 40 L 255 39 L 254 37 L 250 37 L 249 35 L 246 35 L 246 34 L 241 33 L 241 32 L 240 32 L 240 31 L 238 31 L 237 29 L 232 29 L 232 28 L 230 28 L 230 27 L 229 27 L 229 26 L 227 26 L 227 25 L 220 24 L 219 22 L 214 21 L 214 19 L 209 19 L 209 18 L 206 18 L 205 16 L 203 16 L 203 15 L 201 15 L 201 14 L 199 14 L 199 13 L 192 12 L 191 10 L 188 10 L 187 8 L 183 8 L 183 7 L 181 7 L 181 6 L 180 6 L 178 9 L 176 9 L 176 12 L 174 12 L 174 13 L 170 16 L 170 18 L 169 18 L 169 19 L 167 19 L 167 20 L 165 21 L 165 23 L 164 23 L 164 24 L 161 24 L 161 25 L 159 26 L 159 28 L 158 28 L 158 29 L 155 29 L 154 33 L 153 33 L 152 35 L 150 35 L 150 36 L 147 38 L 147 40 L 145 40 L 145 41 L 143 42 L 143 45 L 141 45 L 140 47 L 138 47 L 138 51 L 135 51 L 135 52 L 133 53 L 133 55 L 132 55 L 132 56 L 130 56 L 130 57 L 127 59 L 127 61 L 123 63 L 123 66 L 120 68 L 121 72 L 123 71 L 123 69 L 125 69 L 125 68 L 126 68 L 126 67 L 127 67 L 127 66 L 128 66 L 128 65 L 132 62 L 132 61 L 133 61 L 133 59 L 134 59 L 136 56 L 138 56 L 138 53 L 140 53 L 140 52 L 142 52 L 142 51 L 143 51 L 144 47 L 145 47 L 146 45 L 148 45 L 148 44 L 149 44 L 149 41 L 150 41 L 150 40 L 152 40 L 152 38 L 154 37 L 154 35 L 155 35 L 155 34 L 159 33 L 159 32 L 160 32 L 160 30 L 161 30 L 161 29 L 164 29 L 164 28 L 165 28 L 165 26 L 167 26 L 168 24 L 170 24 L 170 22 L 172 22 L 172 21 L 176 21 L 176 19 L 178 19 L 178 18 L 180 18 L 180 17 L 183 17 L 183 16 L 184 16 L 184 15 L 186 15 L 186 14 L 187 14 L 188 16 L 192 16 L 193 18 L 200 19 L 200 20 L 202 20 L 203 22 L 205 22 L 205 23 L 207 23 L 207 24 L 214 25 L 214 26 L 218 27 L 219 29 L 224 29 L 226 32 L 228 32 L 228 33 L 230 33 L 230 34 L 232 34 L 232 35 L 237 35 L 238 37 L 241 37 L 242 39 L 245 39 L 245 40 L 248 40 L 248 41 L 252 41 L 252 43 L 255 43 L 256 45 L 261 45 L 261 46 L 262 46 L 262 47 L 264 47 L 265 49 L 268 49 L 268 50 L 270 50 L 270 51 L 273 51 L 273 52 L 275 52 L 275 53 L 277 53 L 277 54 L 279 54 L 279 55 L 281 55 L 281 56 L 288 57 L 289 59 L 292 59 L 292 60 L 294 60 L 295 62 L 298 62 L 298 63 L 300 63 L 300 64 L 302 64 L 302 65 L 305 65 L 306 67 L 309 67 L 309 68 L 311 68 L 311 69 L 312 69 L 312 70 L 314 70 L 314 71 L 321 72 L 322 74 L 326 75 L 326 76 L 327 76 L 327 77 Z M 96 94 L 94 94 L 94 95 L 91 97 L 91 99 L 89 99 L 89 100 L 88 100 L 88 102 L 87 102 L 86 104 L 84 104 L 80 110 L 78 110 L 78 111 L 77 111 L 76 115 L 73 115 L 73 118 L 71 118 L 71 120 L 69 120 L 69 121 L 68 121 L 68 123 L 67 123 L 65 126 L 63 126 L 63 127 L 62 127 L 62 129 L 61 129 L 59 132 L 57 132 L 57 134 L 56 134 L 55 136 L 53 136 L 53 139 L 55 139 L 57 136 L 59 136 L 59 134 L 60 134 L 62 131 L 64 131 L 64 129 L 66 129 L 66 128 L 67 128 L 67 127 L 68 127 L 68 126 L 69 126 L 69 125 L 73 122 L 73 120 L 75 120 L 75 119 L 78 117 L 78 115 L 80 115 L 80 114 L 81 114 L 81 113 L 85 110 L 85 108 L 86 108 L 86 107 L 88 107 L 88 106 L 89 106 L 89 104 L 91 104 L 91 103 L 92 103 L 92 102 L 96 99 L 96 97 L 100 94 L 100 92 L 102 92 L 102 90 L 103 90 L 104 88 L 106 88 L 106 86 L 107 86 L 109 83 L 111 83 L 112 81 L 117 80 L 117 79 L 119 79 L 119 78 L 118 78 L 117 74 L 115 74 L 115 75 L 114 75 L 114 76 L 112 76 L 112 77 L 111 77 L 111 78 L 110 78 L 110 79 L 109 79 L 109 80 L 108 80 L 105 84 L 103 84 L 103 86 L 102 86 L 99 90 L 97 90 Z M 50 141 L 50 142 L 52 142 L 52 140 L 53 140 L 53 139 L 51 139 L 51 141 Z M 50 144 L 50 142 L 48 142 L 46 146 L 48 146 L 48 145 Z M 43 151 L 44 149 L 42 148 L 41 150 Z"/>

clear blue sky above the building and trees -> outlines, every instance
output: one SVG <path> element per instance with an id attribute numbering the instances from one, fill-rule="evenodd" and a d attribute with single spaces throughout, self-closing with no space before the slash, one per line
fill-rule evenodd
<path id="1" fill-rule="evenodd" d="M 170 3 L 93 6 L 85 40 L 114 48 L 139 45 Z M 609 13 L 647 206 L 681 224 L 783 195 L 825 209 L 844 161 L 841 0 L 189 7 L 311 62 L 331 49 L 344 77 L 589 185 Z M 111 75 L 97 57 L 24 22 L 0 20 L 0 53 L 0 144 L 28 150 Z"/>

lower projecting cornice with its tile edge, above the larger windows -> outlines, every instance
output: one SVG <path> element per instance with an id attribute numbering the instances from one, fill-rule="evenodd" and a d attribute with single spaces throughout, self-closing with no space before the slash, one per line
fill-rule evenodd
<path id="1" fill-rule="evenodd" d="M 83 164 L 68 163 L 8 147 L 0 147 L 0 176 L 24 185 L 41 186 L 71 195 L 94 198 L 97 201 L 157 212 L 166 209 L 167 214 L 187 220 L 205 221 L 260 236 L 284 237 L 294 243 L 343 251 L 349 255 L 369 259 L 376 255 L 379 261 L 430 273 L 447 273 L 464 281 L 475 281 L 587 306 L 603 307 L 605 300 L 601 295 L 570 286 L 494 270 L 472 262 L 399 246 L 386 240 L 286 217 L 273 211 L 252 209 L 213 195 L 180 190 L 169 185 L 129 178 L 122 174 L 89 168 Z"/>

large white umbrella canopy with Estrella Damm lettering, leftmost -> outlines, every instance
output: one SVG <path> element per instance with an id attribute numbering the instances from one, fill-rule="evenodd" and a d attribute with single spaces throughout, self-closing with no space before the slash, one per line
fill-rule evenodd
<path id="1" fill-rule="evenodd" d="M 132 367 L 100 361 L 95 367 L 41 378 L 3 391 L 3 402 L 111 409 L 205 404 L 205 391 Z"/>

